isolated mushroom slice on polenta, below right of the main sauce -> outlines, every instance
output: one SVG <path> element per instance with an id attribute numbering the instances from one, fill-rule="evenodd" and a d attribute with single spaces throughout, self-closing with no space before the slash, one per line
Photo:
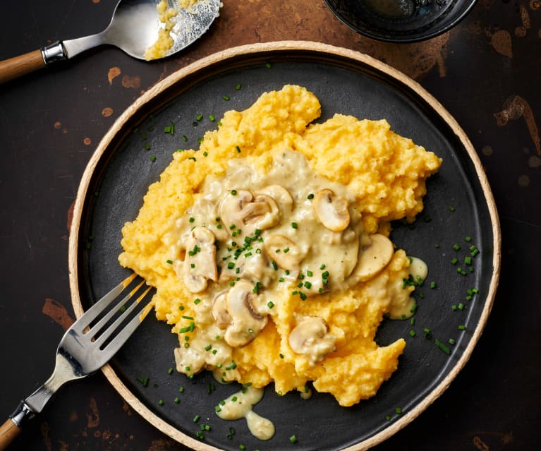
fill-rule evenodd
<path id="1" fill-rule="evenodd" d="M 329 334 L 329 325 L 317 316 L 300 321 L 288 340 L 293 352 L 308 356 L 312 365 L 336 349 L 336 337 Z"/>

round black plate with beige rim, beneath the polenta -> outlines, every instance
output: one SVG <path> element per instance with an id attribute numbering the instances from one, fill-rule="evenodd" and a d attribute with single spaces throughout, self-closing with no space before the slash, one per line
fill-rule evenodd
<path id="1" fill-rule="evenodd" d="M 255 407 L 276 426 L 276 435 L 267 442 L 253 438 L 245 421 L 222 421 L 214 414 L 217 403 L 237 386 L 220 385 L 209 373 L 193 380 L 168 373 L 174 366 L 176 335 L 150 315 L 104 373 L 154 426 L 197 450 L 238 450 L 241 444 L 248 450 L 283 450 L 291 446 L 292 435 L 298 438 L 298 451 L 375 445 L 446 389 L 468 360 L 492 306 L 499 270 L 497 213 L 478 157 L 454 119 L 413 80 L 368 56 L 324 44 L 277 42 L 230 49 L 175 73 L 143 95 L 104 137 L 75 204 L 70 269 L 78 315 L 128 274 L 117 262 L 121 227 L 138 215 L 148 186 L 159 179 L 171 154 L 178 148 L 197 148 L 197 138 L 217 126 L 209 115 L 220 118 L 228 109 L 245 109 L 262 92 L 288 83 L 315 92 L 322 103 L 320 121 L 336 112 L 385 118 L 394 131 L 443 158 L 441 170 L 428 181 L 426 208 L 415 227 L 394 224 L 392 236 L 409 255 L 428 263 L 430 275 L 418 289 L 423 299 L 418 299 L 415 325 L 409 320 L 384 321 L 379 329 L 381 344 L 398 337 L 408 344 L 399 370 L 377 396 L 343 408 L 329 395 L 315 394 L 308 400 L 298 393 L 279 397 L 267 387 Z M 224 95 L 230 99 L 224 100 Z M 195 120 L 198 114 L 204 115 L 200 121 Z M 174 135 L 164 133 L 171 123 Z M 471 241 L 465 241 L 466 236 Z M 458 251 L 455 243 L 461 246 Z M 473 263 L 464 265 L 469 246 L 480 252 Z M 457 265 L 451 263 L 453 258 L 458 258 Z M 459 266 L 465 275 L 457 272 Z M 430 282 L 435 282 L 434 288 Z M 431 331 L 428 339 L 424 328 Z M 415 337 L 409 335 L 411 330 Z M 148 386 L 138 383 L 138 377 L 150 378 Z M 196 415 L 199 423 L 193 421 Z M 201 423 L 211 426 L 204 440 L 196 438 Z"/>

